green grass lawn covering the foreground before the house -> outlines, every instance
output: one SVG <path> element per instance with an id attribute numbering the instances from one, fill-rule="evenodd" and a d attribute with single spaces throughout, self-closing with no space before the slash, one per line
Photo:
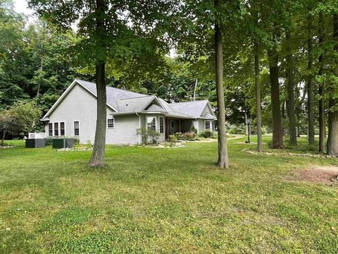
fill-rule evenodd
<path id="1" fill-rule="evenodd" d="M 13 141 L 0 150 L 0 253 L 338 253 L 338 188 L 287 181 L 338 159 L 250 155 L 242 141 L 229 141 L 229 170 L 216 143 L 108 146 L 93 170 L 90 152 Z"/>

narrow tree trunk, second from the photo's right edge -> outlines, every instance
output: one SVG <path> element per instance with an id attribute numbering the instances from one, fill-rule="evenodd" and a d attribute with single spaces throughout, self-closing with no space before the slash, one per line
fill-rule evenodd
<path id="1" fill-rule="evenodd" d="M 318 37 L 319 37 L 319 46 L 323 47 L 323 13 L 319 13 L 318 18 Z M 323 75 L 323 53 L 318 57 L 318 75 Z M 319 147 L 318 151 L 325 153 L 325 103 L 324 103 L 324 89 L 323 83 L 319 84 L 318 88 L 319 102 L 318 102 L 318 122 L 319 122 Z"/>

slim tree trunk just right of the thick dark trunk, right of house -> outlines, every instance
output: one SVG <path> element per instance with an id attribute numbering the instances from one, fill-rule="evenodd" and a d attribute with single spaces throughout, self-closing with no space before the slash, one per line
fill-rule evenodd
<path id="1" fill-rule="evenodd" d="M 291 35 L 287 32 L 287 41 L 291 44 Z M 287 55 L 287 114 L 289 116 L 289 144 L 297 145 L 296 116 L 294 114 L 294 62 L 292 54 Z"/>

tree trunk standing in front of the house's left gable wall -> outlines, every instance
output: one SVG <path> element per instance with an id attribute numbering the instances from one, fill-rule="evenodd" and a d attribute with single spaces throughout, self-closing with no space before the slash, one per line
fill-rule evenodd
<path id="1" fill-rule="evenodd" d="M 89 166 L 102 167 L 106 150 L 107 95 L 105 81 L 105 63 L 96 63 L 97 119 L 95 141 Z"/>

